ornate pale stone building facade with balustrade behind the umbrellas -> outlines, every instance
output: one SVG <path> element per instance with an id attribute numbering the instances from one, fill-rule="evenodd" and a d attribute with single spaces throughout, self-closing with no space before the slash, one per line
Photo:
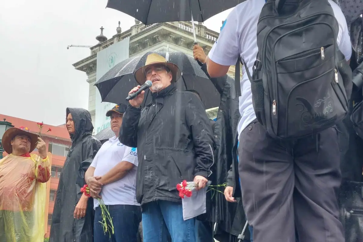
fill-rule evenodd
<path id="1" fill-rule="evenodd" d="M 130 29 L 123 31 L 119 26 L 116 28 L 116 34 L 112 38 L 103 36 L 103 27 L 101 34 L 96 37 L 98 44 L 90 48 L 90 56 L 73 64 L 74 68 L 84 71 L 87 75 L 86 81 L 89 83 L 89 103 L 88 110 L 91 112 L 92 120 L 95 120 L 96 108 L 96 81 L 97 71 L 97 52 L 123 40 L 130 38 L 129 57 L 139 56 L 148 51 L 180 51 L 193 55 L 193 32 L 190 21 L 163 22 L 151 25 L 144 25 L 135 20 L 135 24 Z M 206 54 L 211 50 L 214 42 L 217 40 L 219 33 L 206 28 L 203 24 L 195 24 L 197 42 L 203 47 Z M 234 78 L 234 66 L 229 69 L 228 75 Z M 216 116 L 216 108 L 207 110 L 211 118 Z"/>

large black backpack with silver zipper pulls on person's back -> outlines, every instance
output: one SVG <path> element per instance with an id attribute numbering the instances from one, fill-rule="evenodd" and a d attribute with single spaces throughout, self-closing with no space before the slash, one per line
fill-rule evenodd
<path id="1" fill-rule="evenodd" d="M 346 116 L 348 100 L 340 71 L 345 60 L 338 50 L 338 32 L 327 0 L 265 3 L 257 24 L 252 77 L 248 68 L 246 72 L 257 120 L 270 136 L 300 138 Z"/>

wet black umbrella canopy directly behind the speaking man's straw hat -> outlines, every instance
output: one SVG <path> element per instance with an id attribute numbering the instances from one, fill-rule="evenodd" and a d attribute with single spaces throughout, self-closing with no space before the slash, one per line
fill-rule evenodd
<path id="1" fill-rule="evenodd" d="M 95 83 L 102 101 L 128 104 L 125 98 L 129 95 L 129 91 L 138 85 L 133 73 L 145 64 L 147 56 L 151 53 L 154 52 L 122 61 L 103 75 Z M 193 57 L 182 52 L 158 52 L 158 54 L 165 57 L 169 62 L 178 65 L 182 73 L 181 78 L 176 83 L 178 90 L 197 91 L 206 109 L 219 106 L 220 94 Z M 143 107 L 151 101 L 148 90 L 144 97 Z"/>

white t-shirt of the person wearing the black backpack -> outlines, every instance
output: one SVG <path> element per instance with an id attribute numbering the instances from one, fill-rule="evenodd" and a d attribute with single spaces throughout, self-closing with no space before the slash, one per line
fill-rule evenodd
<path id="1" fill-rule="evenodd" d="M 339 6 L 331 0 L 329 3 L 339 23 L 337 39 L 339 50 L 346 60 L 349 60 L 352 49 L 347 22 Z M 252 74 L 252 66 L 258 52 L 257 21 L 264 4 L 265 0 L 247 0 L 238 4 L 224 21 L 219 38 L 208 54 L 209 59 L 219 65 L 230 66 L 236 64 L 239 54 Z M 251 83 L 244 66 L 242 71 L 244 74 L 241 80 L 241 97 L 239 97 L 241 120 L 237 127 L 238 137 L 242 130 L 256 119 L 252 105 Z"/>

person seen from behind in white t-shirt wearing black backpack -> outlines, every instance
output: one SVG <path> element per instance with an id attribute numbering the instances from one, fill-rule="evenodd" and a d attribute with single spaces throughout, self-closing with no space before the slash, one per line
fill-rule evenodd
<path id="1" fill-rule="evenodd" d="M 239 58 L 248 67 L 236 83 L 238 173 L 254 242 L 294 242 L 295 225 L 300 242 L 344 241 L 335 124 L 348 111 L 350 57 L 331 0 L 246 0 L 225 20 L 207 66 L 211 77 Z"/>

